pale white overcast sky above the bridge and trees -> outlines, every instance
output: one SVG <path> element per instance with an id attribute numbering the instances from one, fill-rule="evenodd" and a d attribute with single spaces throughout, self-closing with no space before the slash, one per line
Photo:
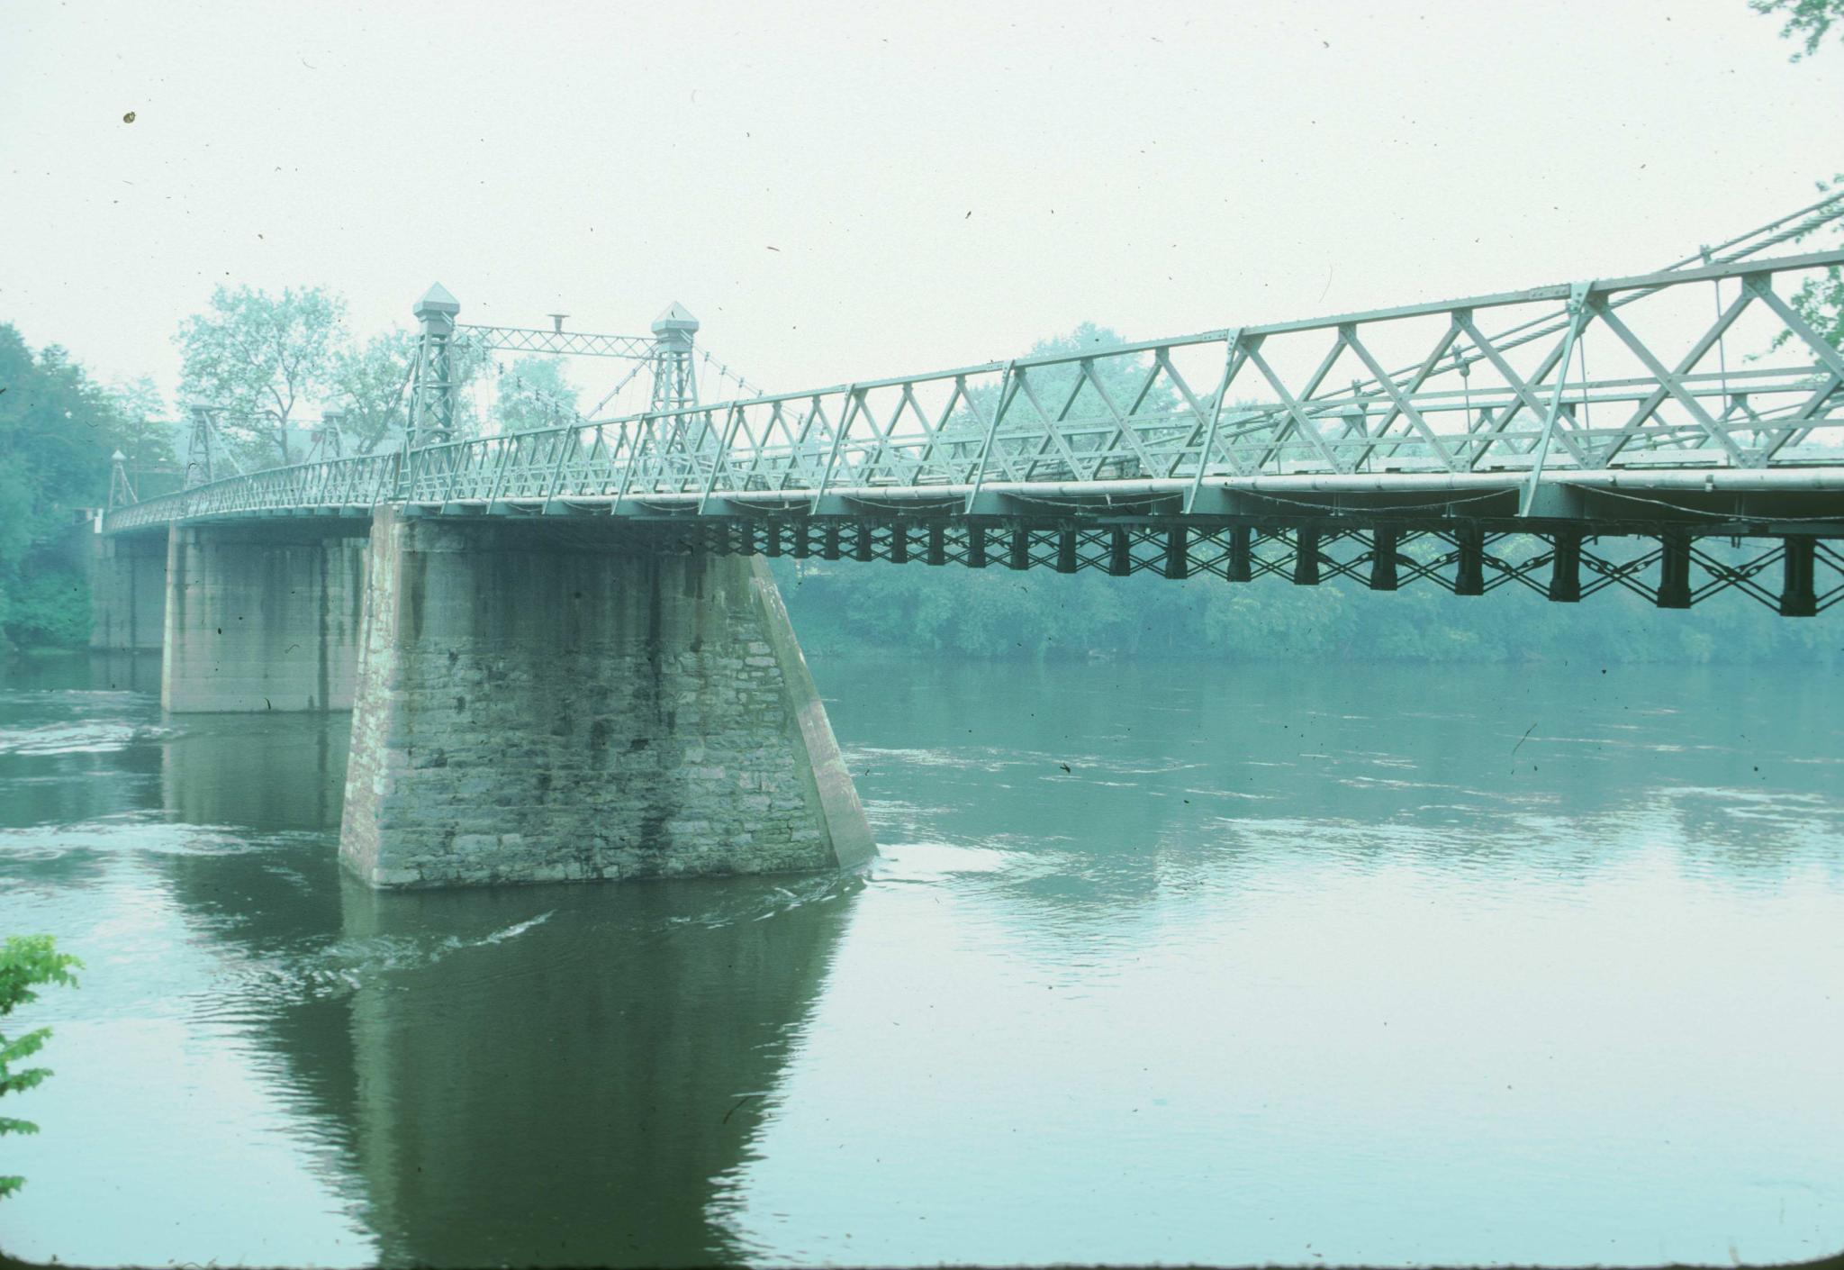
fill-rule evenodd
<path id="1" fill-rule="evenodd" d="M 1844 46 L 1789 65 L 1778 28 L 1744 0 L 11 0 L 0 321 L 171 391 L 219 282 L 330 286 L 360 334 L 433 281 L 461 321 L 644 332 L 680 301 L 791 389 L 1084 319 L 1636 273 L 1844 170 Z"/>

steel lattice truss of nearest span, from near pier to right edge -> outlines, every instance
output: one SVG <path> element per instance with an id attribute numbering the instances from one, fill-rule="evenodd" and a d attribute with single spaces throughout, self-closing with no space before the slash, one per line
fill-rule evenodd
<path id="1" fill-rule="evenodd" d="M 1844 460 L 1789 303 L 1844 251 L 1243 327 L 431 447 L 413 498 Z M 972 502 L 968 502 L 972 506 Z"/>

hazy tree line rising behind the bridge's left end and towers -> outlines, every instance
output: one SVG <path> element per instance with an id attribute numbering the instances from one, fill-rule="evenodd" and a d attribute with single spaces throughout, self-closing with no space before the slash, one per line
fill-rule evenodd
<path id="1" fill-rule="evenodd" d="M 323 286 L 273 295 L 219 286 L 186 318 L 179 395 L 170 404 L 148 377 L 98 382 L 61 345 L 33 351 L 0 323 L 0 650 L 77 648 L 89 641 L 89 580 L 77 524 L 105 506 L 111 456 L 138 497 L 184 480 L 190 406 L 210 406 L 243 471 L 299 463 L 308 426 L 336 421 L 349 454 L 400 443 L 415 336 L 395 329 L 365 340 L 347 327 L 345 301 Z M 527 356 L 489 365 L 463 354 L 468 386 L 498 371 L 489 408 L 459 395 L 459 432 L 537 428 L 575 410 L 561 362 Z"/>

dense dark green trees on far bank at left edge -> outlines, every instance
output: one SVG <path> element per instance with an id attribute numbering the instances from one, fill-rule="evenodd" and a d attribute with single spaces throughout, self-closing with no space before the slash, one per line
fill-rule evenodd
<path id="1" fill-rule="evenodd" d="M 90 600 L 81 509 L 109 497 L 109 456 L 131 473 L 173 461 L 148 382 L 96 384 L 59 347 L 33 354 L 0 325 L 0 644 L 81 644 Z"/>

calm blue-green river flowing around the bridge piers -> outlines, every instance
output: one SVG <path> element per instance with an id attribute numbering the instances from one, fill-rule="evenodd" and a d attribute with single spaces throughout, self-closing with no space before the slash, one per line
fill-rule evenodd
<path id="1" fill-rule="evenodd" d="M 861 877 L 372 895 L 349 716 L 0 689 L 0 1113 L 66 1263 L 1763 1263 L 1844 1248 L 1844 690 L 815 665 Z"/>

